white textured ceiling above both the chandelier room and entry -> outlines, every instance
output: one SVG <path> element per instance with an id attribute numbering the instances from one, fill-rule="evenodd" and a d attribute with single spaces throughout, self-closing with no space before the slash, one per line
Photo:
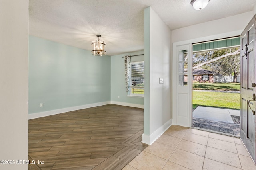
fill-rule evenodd
<path id="1" fill-rule="evenodd" d="M 256 0 L 210 0 L 201 11 L 190 0 L 29 0 L 29 34 L 91 50 L 102 35 L 107 55 L 144 49 L 144 8 L 170 29 L 249 12 Z"/>

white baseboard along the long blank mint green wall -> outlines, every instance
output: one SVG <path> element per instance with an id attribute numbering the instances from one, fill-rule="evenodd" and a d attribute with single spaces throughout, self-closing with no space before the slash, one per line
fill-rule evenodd
<path id="1" fill-rule="evenodd" d="M 56 109 L 56 110 L 50 110 L 50 111 L 28 114 L 28 119 L 36 119 L 36 118 L 39 118 L 39 117 L 56 115 L 56 114 L 65 113 L 65 112 L 69 112 L 69 111 L 80 110 L 80 109 L 87 109 L 87 108 L 90 108 L 90 107 L 102 106 L 102 105 L 106 105 L 106 104 L 111 104 L 111 102 L 110 101 L 98 102 L 98 103 L 86 104 L 86 105 L 81 105 L 81 106 L 74 106 L 74 107 L 68 107 L 68 108 L 63 108 L 63 109 Z"/>

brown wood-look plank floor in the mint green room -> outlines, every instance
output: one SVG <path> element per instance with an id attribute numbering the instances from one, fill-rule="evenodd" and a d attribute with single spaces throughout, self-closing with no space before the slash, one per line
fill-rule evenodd
<path id="1" fill-rule="evenodd" d="M 109 104 L 29 120 L 29 169 L 119 170 L 141 143 L 143 109 Z"/>

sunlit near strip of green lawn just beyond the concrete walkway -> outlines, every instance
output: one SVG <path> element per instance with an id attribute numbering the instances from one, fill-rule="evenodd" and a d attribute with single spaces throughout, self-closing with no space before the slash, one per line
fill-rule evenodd
<path id="1" fill-rule="evenodd" d="M 193 91 L 193 109 L 197 106 L 240 109 L 240 93 Z"/>

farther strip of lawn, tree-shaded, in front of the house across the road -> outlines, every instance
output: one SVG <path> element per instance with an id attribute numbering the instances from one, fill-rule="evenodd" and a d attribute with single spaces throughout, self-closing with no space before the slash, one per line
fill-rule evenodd
<path id="1" fill-rule="evenodd" d="M 193 90 L 239 91 L 240 83 L 193 83 Z"/>

